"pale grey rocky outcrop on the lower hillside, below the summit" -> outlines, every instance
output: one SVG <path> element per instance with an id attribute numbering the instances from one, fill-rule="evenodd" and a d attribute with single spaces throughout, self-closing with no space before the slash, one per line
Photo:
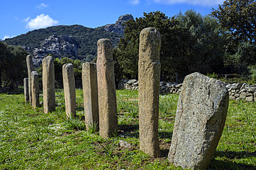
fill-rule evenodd
<path id="1" fill-rule="evenodd" d="M 53 34 L 45 39 L 41 45 L 33 51 L 33 63 L 38 66 L 44 56 L 52 54 L 55 58 L 67 56 L 77 59 L 77 41 L 72 36 Z"/>

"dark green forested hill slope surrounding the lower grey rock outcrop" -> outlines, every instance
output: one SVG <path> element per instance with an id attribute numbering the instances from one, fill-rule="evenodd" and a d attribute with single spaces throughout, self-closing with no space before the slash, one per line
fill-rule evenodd
<path id="1" fill-rule="evenodd" d="M 8 45 L 21 45 L 30 54 L 33 54 L 35 48 L 40 47 L 41 43 L 49 36 L 71 36 L 75 39 L 77 45 L 77 59 L 92 58 L 97 55 L 97 41 L 99 39 L 110 39 L 113 47 L 118 45 L 122 34 L 107 32 L 104 26 L 99 28 L 86 28 L 82 25 L 58 25 L 39 30 L 33 30 L 26 34 L 21 34 L 12 39 L 6 39 Z"/>

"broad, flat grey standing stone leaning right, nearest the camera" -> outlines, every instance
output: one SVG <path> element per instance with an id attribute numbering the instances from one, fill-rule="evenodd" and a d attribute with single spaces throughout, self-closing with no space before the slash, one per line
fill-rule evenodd
<path id="1" fill-rule="evenodd" d="M 203 74 L 185 77 L 168 160 L 183 169 L 208 169 L 228 111 L 228 90 Z"/>

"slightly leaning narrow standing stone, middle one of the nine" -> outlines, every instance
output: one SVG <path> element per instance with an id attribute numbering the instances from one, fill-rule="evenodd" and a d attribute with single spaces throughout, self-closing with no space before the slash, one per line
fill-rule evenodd
<path id="1" fill-rule="evenodd" d="M 75 116 L 75 76 L 73 64 L 68 63 L 62 66 L 64 96 L 66 105 L 66 116 Z"/>

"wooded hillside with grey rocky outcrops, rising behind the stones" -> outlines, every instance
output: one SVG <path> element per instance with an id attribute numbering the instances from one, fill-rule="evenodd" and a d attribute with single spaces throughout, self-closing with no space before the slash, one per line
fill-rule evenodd
<path id="1" fill-rule="evenodd" d="M 33 63 L 38 66 L 44 56 L 52 54 L 55 58 L 68 57 L 81 61 L 92 61 L 97 56 L 97 41 L 110 39 L 113 47 L 117 46 L 125 28 L 122 23 L 134 19 L 125 14 L 113 24 L 99 28 L 86 28 L 82 25 L 58 25 L 21 34 L 6 39 L 8 45 L 20 45 L 33 54 Z"/>

